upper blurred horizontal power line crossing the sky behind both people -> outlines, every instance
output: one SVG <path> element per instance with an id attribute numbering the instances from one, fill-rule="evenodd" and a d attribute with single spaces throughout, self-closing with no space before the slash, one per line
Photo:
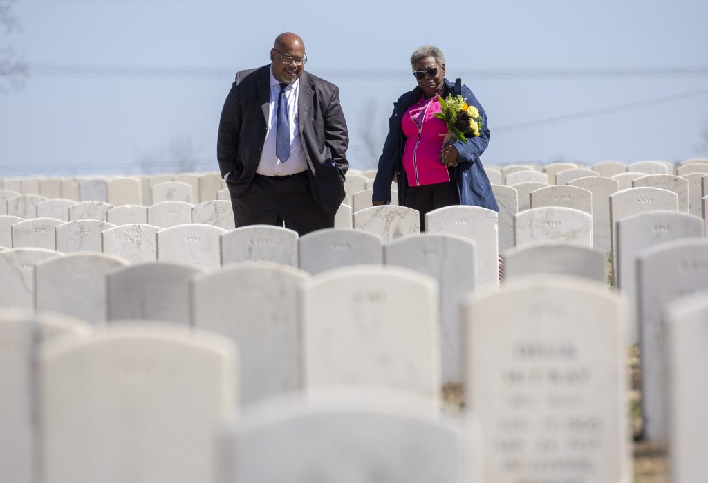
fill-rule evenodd
<path id="1" fill-rule="evenodd" d="M 127 77 L 159 79 L 223 79 L 233 78 L 237 67 L 159 67 L 118 66 L 93 64 L 30 64 L 30 74 L 47 77 Z M 331 79 L 382 80 L 406 79 L 411 75 L 405 69 L 322 69 L 319 74 Z M 708 76 L 708 66 L 699 67 L 643 67 L 598 69 L 455 69 L 456 76 L 474 79 L 631 79 L 631 78 L 687 78 Z"/>

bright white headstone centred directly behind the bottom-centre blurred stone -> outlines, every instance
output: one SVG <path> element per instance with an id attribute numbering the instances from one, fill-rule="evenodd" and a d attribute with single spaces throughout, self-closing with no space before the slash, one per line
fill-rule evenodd
<path id="1" fill-rule="evenodd" d="M 302 295 L 306 387 L 383 386 L 430 398 L 440 391 L 438 284 L 399 267 L 316 275 Z"/>

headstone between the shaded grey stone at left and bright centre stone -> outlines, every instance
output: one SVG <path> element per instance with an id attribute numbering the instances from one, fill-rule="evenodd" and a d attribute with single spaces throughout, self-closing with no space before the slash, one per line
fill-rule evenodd
<path id="1" fill-rule="evenodd" d="M 302 390 L 299 292 L 309 275 L 244 262 L 193 278 L 192 323 L 236 341 L 241 404 Z"/>

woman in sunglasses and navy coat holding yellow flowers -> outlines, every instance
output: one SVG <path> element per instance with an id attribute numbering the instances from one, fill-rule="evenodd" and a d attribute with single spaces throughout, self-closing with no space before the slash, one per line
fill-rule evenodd
<path id="1" fill-rule="evenodd" d="M 389 133 L 374 181 L 374 205 L 391 203 L 398 182 L 399 205 L 425 214 L 449 205 L 498 211 L 479 156 L 489 144 L 486 114 L 461 79 L 445 79 L 445 57 L 423 45 L 411 55 L 418 86 L 394 103 Z"/>

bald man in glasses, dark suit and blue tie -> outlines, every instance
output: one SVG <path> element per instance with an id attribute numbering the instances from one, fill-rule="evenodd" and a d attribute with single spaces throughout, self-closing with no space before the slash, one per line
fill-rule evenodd
<path id="1" fill-rule="evenodd" d="M 294 33 L 278 35 L 270 60 L 236 74 L 219 123 L 217 159 L 236 227 L 285 224 L 300 235 L 333 227 L 349 167 L 339 90 L 304 72 Z"/>

